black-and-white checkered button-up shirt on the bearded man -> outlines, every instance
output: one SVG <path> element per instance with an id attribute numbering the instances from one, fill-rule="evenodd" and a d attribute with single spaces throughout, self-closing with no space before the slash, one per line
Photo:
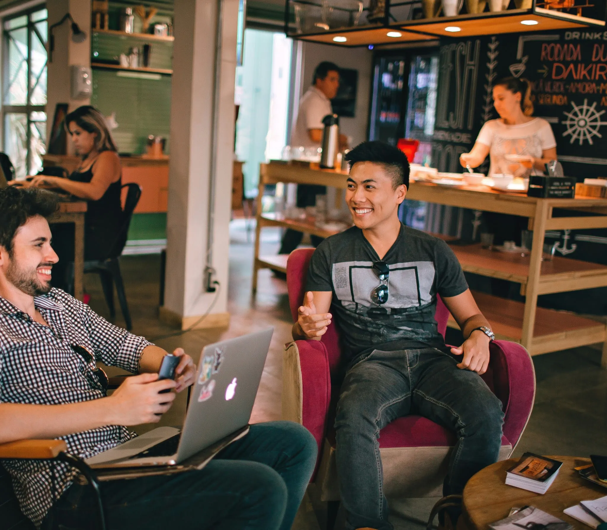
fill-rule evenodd
<path id="1" fill-rule="evenodd" d="M 94 361 L 87 363 L 72 346 L 84 346 L 107 366 L 137 373 L 144 347 L 151 343 L 113 326 L 89 306 L 63 290 L 34 299 L 49 326 L 32 318 L 0 297 L 0 402 L 64 404 L 96 400 L 106 392 Z M 106 451 L 135 435 L 126 427 L 107 425 L 76 432 L 61 439 L 70 454 L 82 458 Z M 64 463 L 51 468 L 46 460 L 4 460 L 22 512 L 36 526 L 53 501 L 70 486 L 76 471 Z M 54 469 L 54 476 L 51 476 Z M 54 498 L 53 498 L 54 483 Z"/>

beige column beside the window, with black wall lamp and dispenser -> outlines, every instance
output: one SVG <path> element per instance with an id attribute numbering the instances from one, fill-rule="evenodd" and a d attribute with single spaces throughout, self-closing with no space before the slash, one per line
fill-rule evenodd
<path id="1" fill-rule="evenodd" d="M 90 99 L 72 99 L 70 97 L 70 65 L 90 66 L 91 3 L 83 2 L 83 0 L 53 0 L 47 2 L 46 5 L 49 11 L 49 27 L 55 22 L 59 22 L 66 13 L 70 13 L 76 24 L 87 35 L 84 42 L 73 42 L 70 21 L 64 22 L 53 30 L 55 50 L 53 51 L 53 62 L 49 62 L 47 70 L 46 105 L 47 138 L 50 138 L 56 104 L 67 103 L 70 111 L 81 105 L 90 105 Z M 69 144 L 70 142 L 68 142 L 68 149 Z"/>

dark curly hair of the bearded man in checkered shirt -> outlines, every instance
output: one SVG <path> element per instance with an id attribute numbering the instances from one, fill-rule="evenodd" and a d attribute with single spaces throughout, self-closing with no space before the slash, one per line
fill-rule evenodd
<path id="1" fill-rule="evenodd" d="M 19 227 L 36 215 L 53 215 L 57 206 L 56 195 L 46 190 L 14 186 L 0 189 L 0 246 L 11 255 Z"/>

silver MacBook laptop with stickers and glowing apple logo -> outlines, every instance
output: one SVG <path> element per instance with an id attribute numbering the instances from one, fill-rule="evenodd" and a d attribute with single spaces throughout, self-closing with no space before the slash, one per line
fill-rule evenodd
<path id="1" fill-rule="evenodd" d="M 159 427 L 101 452 L 92 468 L 177 465 L 248 424 L 274 328 L 203 348 L 183 429 Z"/>

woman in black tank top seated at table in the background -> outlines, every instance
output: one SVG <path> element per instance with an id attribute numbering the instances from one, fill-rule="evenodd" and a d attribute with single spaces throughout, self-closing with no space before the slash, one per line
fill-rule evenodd
<path id="1" fill-rule="evenodd" d="M 85 105 L 66 116 L 66 129 L 81 163 L 68 178 L 36 175 L 29 186 L 58 188 L 84 199 L 84 259 L 104 260 L 122 224 L 120 202 L 122 167 L 106 118 L 95 107 Z M 74 225 L 53 224 L 53 248 L 59 265 L 53 273 L 53 286 L 65 289 L 67 264 L 74 260 Z M 61 270 L 57 270 L 61 269 Z"/>

